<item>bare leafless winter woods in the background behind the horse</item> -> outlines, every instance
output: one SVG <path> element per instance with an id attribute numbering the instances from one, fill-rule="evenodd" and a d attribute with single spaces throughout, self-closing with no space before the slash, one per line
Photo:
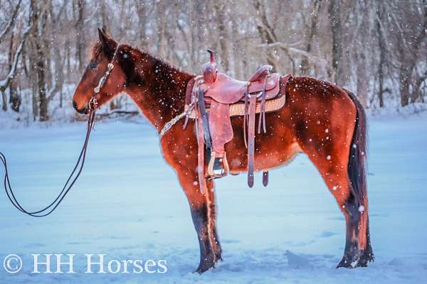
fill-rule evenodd
<path id="1" fill-rule="evenodd" d="M 347 87 L 367 108 L 427 94 L 427 0 L 0 0 L 0 19 L 1 111 L 33 120 L 70 108 L 100 27 L 194 73 L 211 48 L 240 79 L 268 63 Z"/>

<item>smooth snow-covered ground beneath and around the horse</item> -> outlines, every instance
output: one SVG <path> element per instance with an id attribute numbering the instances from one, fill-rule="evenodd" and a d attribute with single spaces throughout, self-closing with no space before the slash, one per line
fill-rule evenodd
<path id="1" fill-rule="evenodd" d="M 369 202 L 376 261 L 335 269 L 344 219 L 304 155 L 270 173 L 218 180 L 223 262 L 203 275 L 189 206 L 148 124 L 97 124 L 85 171 L 50 217 L 34 219 L 0 196 L 0 283 L 427 283 L 427 116 L 375 117 L 370 124 Z M 0 131 L 13 186 L 28 209 L 48 204 L 68 176 L 85 124 Z M 0 170 L 1 175 L 3 170 Z M 36 274 L 31 253 L 75 253 L 68 274 Z M 84 273 L 85 253 L 106 261 L 167 261 L 167 273 Z M 56 258 L 53 258 L 55 261 Z M 67 266 L 63 266 L 67 271 Z M 43 269 L 42 269 L 43 270 Z"/>

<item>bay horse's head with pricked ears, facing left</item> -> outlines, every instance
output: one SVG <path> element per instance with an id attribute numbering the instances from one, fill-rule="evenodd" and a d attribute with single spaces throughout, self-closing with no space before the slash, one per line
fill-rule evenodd
<path id="1" fill-rule="evenodd" d="M 100 82 L 101 77 L 107 72 L 107 66 L 110 62 L 114 67 L 111 70 L 110 76 L 107 77 L 105 84 L 100 88 L 100 92 L 96 94 L 97 107 L 110 101 L 117 94 L 124 92 L 125 89 L 125 72 L 123 72 L 118 62 L 126 55 L 120 52 L 120 46 L 118 46 L 118 43 L 110 35 L 99 29 L 98 32 L 100 40 L 93 47 L 92 58 L 90 58 L 89 65 L 86 67 L 85 73 L 77 89 L 75 89 L 73 96 L 73 107 L 80 114 L 88 112 L 89 102 L 93 97 L 94 89 Z M 116 52 L 117 48 L 119 50 Z"/>

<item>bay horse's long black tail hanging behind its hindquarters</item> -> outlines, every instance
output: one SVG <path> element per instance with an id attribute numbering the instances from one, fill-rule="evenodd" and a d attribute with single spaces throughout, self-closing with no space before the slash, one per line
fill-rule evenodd
<path id="1" fill-rule="evenodd" d="M 350 145 L 350 156 L 347 172 L 350 182 L 353 187 L 353 194 L 359 205 L 367 206 L 367 175 L 366 175 L 366 159 L 367 159 L 367 116 L 359 99 L 347 92 L 352 99 L 357 109 L 356 124 L 352 144 Z"/>

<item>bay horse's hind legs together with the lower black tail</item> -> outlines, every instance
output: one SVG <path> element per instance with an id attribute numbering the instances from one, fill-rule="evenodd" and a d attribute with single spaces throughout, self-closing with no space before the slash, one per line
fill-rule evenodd
<path id="1" fill-rule="evenodd" d="M 347 223 L 344 257 L 338 267 L 354 268 L 367 266 L 374 260 L 374 255 L 369 240 L 366 176 L 364 169 L 355 166 L 352 160 L 364 155 L 363 152 L 356 153 L 364 147 L 352 141 L 352 135 L 344 129 L 327 131 L 325 136 L 328 138 L 320 141 L 301 136 L 300 147 L 319 170 Z"/>

